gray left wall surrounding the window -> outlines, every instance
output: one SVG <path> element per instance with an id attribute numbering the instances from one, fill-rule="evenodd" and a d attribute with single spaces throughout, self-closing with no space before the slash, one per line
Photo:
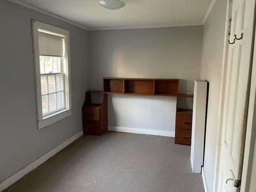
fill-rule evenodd
<path id="1" fill-rule="evenodd" d="M 36 126 L 31 19 L 70 32 L 72 116 L 40 130 Z M 0 181 L 82 130 L 87 47 L 86 30 L 0 0 Z"/>

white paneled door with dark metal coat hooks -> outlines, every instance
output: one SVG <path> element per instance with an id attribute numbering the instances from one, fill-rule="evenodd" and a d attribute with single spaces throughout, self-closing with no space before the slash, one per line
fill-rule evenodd
<path id="1" fill-rule="evenodd" d="M 224 94 L 219 192 L 239 192 L 252 63 L 255 0 L 233 0 Z M 243 181 L 242 181 L 243 182 Z M 239 185 L 239 184 L 238 184 Z"/>

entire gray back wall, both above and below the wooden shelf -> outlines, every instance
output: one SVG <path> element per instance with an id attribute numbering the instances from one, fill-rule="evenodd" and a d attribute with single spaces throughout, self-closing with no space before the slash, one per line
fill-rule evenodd
<path id="1" fill-rule="evenodd" d="M 200 78 L 202 28 L 90 31 L 90 88 L 102 90 L 103 77 L 179 78 L 180 93 L 193 94 L 194 79 Z M 174 132 L 176 98 L 108 98 L 110 126 Z M 191 98 L 180 101 L 181 107 L 192 107 Z"/>

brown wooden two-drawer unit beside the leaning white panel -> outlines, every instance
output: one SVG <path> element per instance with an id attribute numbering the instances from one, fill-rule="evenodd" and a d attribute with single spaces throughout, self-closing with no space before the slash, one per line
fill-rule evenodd
<path id="1" fill-rule="evenodd" d="M 175 144 L 191 145 L 192 110 L 177 109 Z"/>

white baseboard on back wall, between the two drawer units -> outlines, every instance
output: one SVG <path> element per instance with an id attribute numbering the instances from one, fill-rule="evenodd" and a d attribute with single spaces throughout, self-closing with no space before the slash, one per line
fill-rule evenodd
<path id="1" fill-rule="evenodd" d="M 126 133 L 138 133 L 138 134 L 148 134 L 148 135 L 159 135 L 174 137 L 174 131 L 162 131 L 162 130 L 152 130 L 152 129 L 140 129 L 140 128 L 129 128 L 129 127 L 119 127 L 119 126 L 108 126 L 109 131 L 118 131 Z"/>

